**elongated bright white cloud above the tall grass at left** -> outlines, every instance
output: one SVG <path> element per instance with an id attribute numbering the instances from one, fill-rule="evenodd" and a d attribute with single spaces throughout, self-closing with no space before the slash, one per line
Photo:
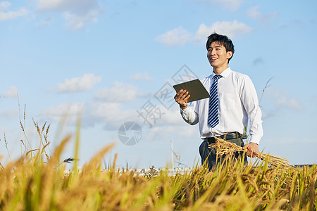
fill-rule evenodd
<path id="1" fill-rule="evenodd" d="M 101 77 L 96 77 L 94 74 L 85 74 L 82 77 L 66 79 L 62 84 L 57 84 L 56 91 L 58 93 L 87 91 L 99 82 L 101 82 Z"/>

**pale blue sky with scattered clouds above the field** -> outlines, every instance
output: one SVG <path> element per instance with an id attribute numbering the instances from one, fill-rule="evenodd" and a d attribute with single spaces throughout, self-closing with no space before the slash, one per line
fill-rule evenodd
<path id="1" fill-rule="evenodd" d="M 185 71 L 211 74 L 205 43 L 218 32 L 235 44 L 230 68 L 263 94 L 260 151 L 316 163 L 316 8 L 316 1 L 0 1 L 0 162 L 9 159 L 4 135 L 12 159 L 25 140 L 18 94 L 32 148 L 39 146 L 32 118 L 51 124 L 53 149 L 74 136 L 81 114 L 80 165 L 116 142 L 105 162 L 118 153 L 118 167 L 165 167 L 173 139 L 180 162 L 193 166 L 199 129 L 182 120 L 170 86 Z M 155 122 L 139 115 L 146 108 Z M 142 129 L 133 146 L 119 141 L 125 122 Z M 73 157 L 73 142 L 63 158 Z"/>

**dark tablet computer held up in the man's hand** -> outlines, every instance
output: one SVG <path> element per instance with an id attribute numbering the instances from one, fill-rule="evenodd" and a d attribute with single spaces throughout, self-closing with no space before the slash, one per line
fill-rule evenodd
<path id="1" fill-rule="evenodd" d="M 203 84 L 201 84 L 199 79 L 194 79 L 189 82 L 185 82 L 182 84 L 176 84 L 173 86 L 176 93 L 180 91 L 180 89 L 186 89 L 190 94 L 187 103 L 192 101 L 199 101 L 204 98 L 210 98 L 209 92 L 206 90 Z"/>

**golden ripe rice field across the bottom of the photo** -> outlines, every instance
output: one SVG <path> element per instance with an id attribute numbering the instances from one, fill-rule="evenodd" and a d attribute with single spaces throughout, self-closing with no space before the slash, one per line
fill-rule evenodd
<path id="1" fill-rule="evenodd" d="M 169 175 L 155 167 L 118 169 L 115 157 L 104 170 L 111 144 L 78 170 L 77 153 L 60 160 L 70 136 L 51 152 L 48 128 L 35 126 L 39 148 L 0 165 L 0 210 L 316 210 L 316 165 L 271 167 L 259 160 L 244 166 L 227 160 L 211 172 L 196 165 Z M 77 152 L 79 132 L 75 137 Z M 73 162 L 68 174 L 66 162 Z"/>

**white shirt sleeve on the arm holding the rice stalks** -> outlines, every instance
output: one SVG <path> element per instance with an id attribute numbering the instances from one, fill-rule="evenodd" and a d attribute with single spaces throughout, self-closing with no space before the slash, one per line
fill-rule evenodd
<path id="1" fill-rule="evenodd" d="M 242 86 L 240 87 L 240 98 L 249 117 L 249 142 L 259 145 L 261 137 L 263 136 L 262 113 L 256 89 L 247 75 L 244 77 Z"/>

